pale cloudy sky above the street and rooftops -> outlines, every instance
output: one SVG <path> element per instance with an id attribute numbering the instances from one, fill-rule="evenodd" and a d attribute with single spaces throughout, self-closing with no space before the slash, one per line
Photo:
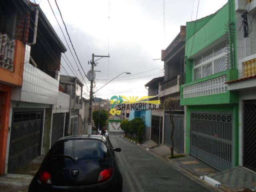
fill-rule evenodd
<path id="1" fill-rule="evenodd" d="M 55 1 L 49 1 L 64 30 Z M 48 1 L 36 0 L 36 2 L 40 4 L 66 46 Z M 57 0 L 57 2 L 86 73 L 90 70 L 88 61 L 91 60 L 92 53 L 110 54 L 109 59 L 99 60 L 95 68 L 101 71 L 96 72 L 95 91 L 122 72 L 132 73 L 122 74 L 121 78 L 116 78 L 96 92 L 96 96 L 101 98 L 110 98 L 113 95 L 147 95 L 144 85 L 152 78 L 163 76 L 164 63 L 153 59 L 161 57 L 161 49 L 165 49 L 172 42 L 181 25 L 196 20 L 198 6 L 198 0 Z M 201 0 L 197 18 L 216 12 L 226 2 L 227 0 Z M 69 50 L 66 55 L 77 70 Z M 65 62 L 62 61 L 62 65 L 70 76 L 74 76 Z M 90 85 L 88 81 L 86 83 Z M 86 86 L 84 92 L 89 94 Z M 88 98 L 86 95 L 84 97 Z"/>

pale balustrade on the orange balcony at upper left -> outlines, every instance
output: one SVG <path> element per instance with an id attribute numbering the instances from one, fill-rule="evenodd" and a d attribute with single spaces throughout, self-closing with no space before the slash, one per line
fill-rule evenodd
<path id="1" fill-rule="evenodd" d="M 13 71 L 15 41 L 0 33 L 0 67 Z"/>

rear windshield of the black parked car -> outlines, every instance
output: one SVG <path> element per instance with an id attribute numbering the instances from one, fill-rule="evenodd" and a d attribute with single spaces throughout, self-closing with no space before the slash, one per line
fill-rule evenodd
<path id="1" fill-rule="evenodd" d="M 79 159 L 108 158 L 108 148 L 98 140 L 61 140 L 56 143 L 53 155 L 71 156 Z"/>

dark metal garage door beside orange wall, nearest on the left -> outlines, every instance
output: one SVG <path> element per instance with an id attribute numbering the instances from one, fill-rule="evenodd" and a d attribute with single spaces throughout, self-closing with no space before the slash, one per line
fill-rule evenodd
<path id="1" fill-rule="evenodd" d="M 14 173 L 40 154 L 42 112 L 15 112 L 12 118 L 8 172 Z"/>

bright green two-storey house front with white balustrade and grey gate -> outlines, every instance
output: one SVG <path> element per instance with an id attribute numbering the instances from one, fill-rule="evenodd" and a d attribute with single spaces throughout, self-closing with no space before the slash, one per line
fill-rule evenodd
<path id="1" fill-rule="evenodd" d="M 186 23 L 185 152 L 218 170 L 238 165 L 239 98 L 226 84 L 238 77 L 234 4 Z"/>

